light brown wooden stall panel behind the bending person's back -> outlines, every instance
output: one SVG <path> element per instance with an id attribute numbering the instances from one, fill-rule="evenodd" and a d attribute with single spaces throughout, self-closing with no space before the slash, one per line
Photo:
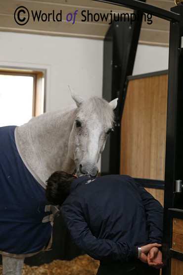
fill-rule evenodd
<path id="1" fill-rule="evenodd" d="M 120 173 L 136 178 L 163 205 L 167 71 L 129 78 L 121 121 Z"/>

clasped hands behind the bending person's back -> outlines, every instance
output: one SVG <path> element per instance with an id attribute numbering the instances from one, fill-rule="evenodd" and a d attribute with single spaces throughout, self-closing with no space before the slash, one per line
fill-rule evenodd
<path id="1" fill-rule="evenodd" d="M 141 246 L 141 257 L 140 261 L 143 263 L 147 263 L 150 267 L 160 269 L 163 267 L 162 262 L 162 253 L 158 249 L 161 247 L 161 244 L 158 243 L 150 243 L 147 245 Z"/>

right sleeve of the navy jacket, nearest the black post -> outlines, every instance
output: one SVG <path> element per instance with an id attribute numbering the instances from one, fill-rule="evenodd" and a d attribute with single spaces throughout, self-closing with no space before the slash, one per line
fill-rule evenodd
<path id="1" fill-rule="evenodd" d="M 140 184 L 137 183 L 137 187 L 146 213 L 149 243 L 162 244 L 163 207 Z"/>

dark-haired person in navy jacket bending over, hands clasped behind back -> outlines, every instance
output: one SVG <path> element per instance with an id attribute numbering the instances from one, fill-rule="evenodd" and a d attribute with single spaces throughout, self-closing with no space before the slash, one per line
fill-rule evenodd
<path id="1" fill-rule="evenodd" d="M 97 275 L 159 274 L 163 208 L 132 177 L 56 171 L 46 181 L 46 198 L 61 206 L 73 242 L 100 260 Z"/>

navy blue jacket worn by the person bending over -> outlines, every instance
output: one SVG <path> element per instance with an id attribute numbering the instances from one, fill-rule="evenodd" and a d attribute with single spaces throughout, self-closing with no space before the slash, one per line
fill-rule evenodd
<path id="1" fill-rule="evenodd" d="M 127 175 L 75 179 L 61 213 L 73 242 L 97 260 L 126 262 L 137 246 L 162 243 L 161 204 Z"/>

